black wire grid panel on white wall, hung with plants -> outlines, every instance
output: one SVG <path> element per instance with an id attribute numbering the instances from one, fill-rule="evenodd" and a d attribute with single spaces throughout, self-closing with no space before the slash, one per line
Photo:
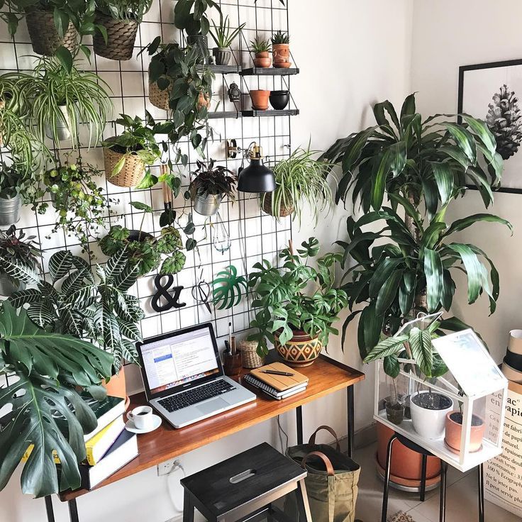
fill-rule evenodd
<path id="1" fill-rule="evenodd" d="M 128 61 L 118 62 L 107 60 L 92 53 L 91 62 L 85 60 L 82 55 L 79 57 L 80 70 L 93 70 L 111 88 L 111 100 L 113 102 L 113 113 L 108 116 L 108 122 L 104 130 L 103 138 L 120 133 L 123 130 L 116 125 L 115 120 L 118 114 L 126 113 L 132 117 L 139 116 L 145 118 L 145 111 L 149 111 L 156 121 L 167 118 L 166 111 L 157 109 L 150 104 L 148 99 L 148 65 L 150 57 L 145 51 L 140 54 L 154 38 L 158 35 L 162 37 L 163 43 L 177 41 L 182 43 L 182 36 L 179 30 L 174 27 L 174 6 L 172 0 L 155 0 L 152 9 L 145 16 L 143 23 L 140 24 L 138 36 L 135 42 L 133 58 Z M 261 38 L 269 39 L 275 30 L 288 30 L 288 12 L 279 0 L 258 0 L 254 5 L 254 0 L 246 1 L 223 1 L 221 2 L 223 16 L 229 16 L 231 26 L 238 27 L 240 23 L 245 23 L 243 36 L 235 39 L 233 43 L 233 60 L 242 67 L 252 67 L 250 52 L 246 47 L 250 40 L 256 35 Z M 216 13 L 213 13 L 216 18 Z M 92 50 L 91 38 L 84 38 L 84 43 Z M 213 47 L 213 40 L 209 35 L 209 48 Z M 21 22 L 18 32 L 11 38 L 7 32 L 6 24 L 0 25 L 0 72 L 4 74 L 10 71 L 32 71 L 38 60 L 33 53 L 30 45 L 26 24 Z M 242 99 L 239 106 L 235 106 L 228 100 L 228 87 L 232 82 L 240 86 Z M 289 89 L 289 78 L 287 77 L 240 77 L 240 74 L 216 74 L 213 82 L 213 97 L 210 112 L 234 111 L 250 109 L 250 96 L 248 89 Z M 211 118 L 209 124 L 213 128 L 213 140 L 209 140 L 206 147 L 206 157 L 213 158 L 218 165 L 226 165 L 233 172 L 238 172 L 242 165 L 242 157 L 231 160 L 226 157 L 226 140 L 235 138 L 238 145 L 248 148 L 252 141 L 262 145 L 267 161 L 274 162 L 284 157 L 288 157 L 291 152 L 291 121 L 289 116 L 264 117 L 264 118 Z M 87 125 L 81 124 L 79 128 L 80 143 L 76 150 L 67 148 L 70 143 L 60 144 L 48 142 L 48 146 L 55 151 L 60 160 L 65 161 L 67 154 L 70 153 L 70 161 L 76 160 L 81 155 L 82 162 L 103 170 L 103 152 L 100 144 L 89 148 L 89 130 Z M 166 138 L 166 137 L 165 137 Z M 160 140 L 159 140 L 160 141 Z M 180 309 L 157 313 L 150 306 L 151 297 L 155 294 L 154 279 L 157 273 L 151 273 L 138 279 L 137 284 L 130 290 L 140 299 L 140 304 L 145 311 L 146 317 L 141 321 L 141 331 L 144 337 L 174 331 L 177 328 L 191 326 L 194 323 L 212 321 L 218 337 L 228 333 L 228 323 L 233 323 L 233 331 L 240 332 L 248 328 L 252 310 L 250 309 L 250 299 L 243 301 L 239 306 L 234 306 L 230 310 L 218 311 L 211 309 L 209 313 L 206 306 L 199 303 L 192 296 L 191 289 L 204 279 L 211 283 L 213 277 L 228 265 L 235 265 L 239 274 L 248 274 L 255 262 L 262 258 L 277 263 L 277 252 L 284 248 L 291 239 L 291 219 L 283 218 L 278 222 L 272 216 L 267 216 L 260 210 L 260 204 L 255 194 L 238 193 L 235 204 L 224 201 L 221 204 L 220 216 L 223 226 L 231 238 L 231 248 L 226 252 L 218 252 L 213 247 L 213 242 L 218 231 L 218 218 L 204 218 L 192 212 L 191 202 L 185 201 L 183 193 L 189 184 L 189 172 L 194 170 L 195 162 L 199 159 L 196 151 L 191 148 L 187 140 L 179 144 L 183 152 L 189 156 L 189 166 L 187 169 L 179 165 L 180 175 L 182 176 L 182 189 L 179 196 L 174 199 L 174 209 L 178 214 L 178 228 L 183 228 L 187 224 L 189 213 L 192 213 L 196 231 L 192 237 L 198 241 L 198 248 L 187 255 L 187 262 L 184 269 L 179 274 L 174 275 L 174 284 L 182 285 L 184 290 L 179 297 L 180 302 L 186 306 Z M 4 155 L 5 155 L 5 151 Z M 174 152 L 170 146 L 167 153 L 162 157 L 162 161 L 167 159 L 174 160 Z M 49 165 L 50 167 L 50 165 Z M 152 165 L 152 172 L 160 173 L 160 162 Z M 106 196 L 113 199 L 110 213 L 104 219 L 106 226 L 99 228 L 96 234 L 99 238 L 103 237 L 110 226 L 121 224 L 127 228 L 137 229 L 140 227 L 143 213 L 130 206 L 131 201 L 142 201 L 149 204 L 154 209 L 152 216 L 145 217 L 143 231 L 157 235 L 160 232 L 159 218 L 164 210 L 162 186 L 158 184 L 152 189 L 123 189 L 106 182 L 104 177 L 96 179 L 100 187 L 104 187 Z M 51 233 L 57 219 L 57 215 L 52 208 L 50 196 L 44 197 L 49 201 L 48 211 L 41 215 L 31 211 L 30 206 L 24 206 L 21 221 L 17 223 L 17 228 L 23 229 L 28 235 L 34 234 L 40 242 L 43 250 L 43 271 L 47 274 L 48 261 L 50 256 L 67 248 L 76 255 L 82 255 L 89 259 L 91 265 L 103 263 L 106 257 L 101 253 L 96 243 L 96 238 L 92 237 L 89 241 L 88 251 L 84 252 L 82 245 L 79 244 L 74 235 L 67 235 L 62 229 L 57 233 Z M 186 236 L 182 232 L 182 238 Z M 211 302 L 211 296 L 209 299 Z"/>

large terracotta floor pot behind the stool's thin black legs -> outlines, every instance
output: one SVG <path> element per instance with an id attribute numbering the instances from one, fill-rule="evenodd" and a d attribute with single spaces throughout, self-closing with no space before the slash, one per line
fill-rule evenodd
<path id="1" fill-rule="evenodd" d="M 382 423 L 377 423 L 377 460 L 380 467 L 386 466 L 386 453 L 388 443 L 391 437 L 394 435 L 394 431 L 388 426 L 384 426 Z M 422 455 L 414 452 L 406 446 L 402 445 L 399 440 L 394 442 L 391 450 L 391 465 L 390 474 L 394 478 L 394 482 L 400 483 L 403 481 L 418 482 L 421 483 L 422 474 Z M 433 479 L 438 477 L 440 474 L 440 460 L 437 457 L 428 457 L 426 464 L 426 478 Z"/>

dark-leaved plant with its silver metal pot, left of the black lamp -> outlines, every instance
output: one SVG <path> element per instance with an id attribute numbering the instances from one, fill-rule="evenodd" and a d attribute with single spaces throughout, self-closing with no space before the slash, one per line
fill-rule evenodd
<path id="1" fill-rule="evenodd" d="M 201 216 L 213 216 L 219 210 L 224 197 L 235 201 L 235 185 L 238 177 L 223 165 L 214 167 L 214 160 L 209 164 L 197 160 L 197 169 L 189 185 L 189 193 L 194 204 L 194 211 Z"/>

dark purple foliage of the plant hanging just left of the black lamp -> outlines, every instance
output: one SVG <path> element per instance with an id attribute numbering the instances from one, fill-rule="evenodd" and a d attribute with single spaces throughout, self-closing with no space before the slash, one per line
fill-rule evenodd
<path id="1" fill-rule="evenodd" d="M 206 196 L 227 196 L 230 201 L 235 201 L 235 185 L 238 177 L 223 165 L 214 167 L 214 160 L 205 163 L 196 160 L 197 169 L 192 172 L 194 178 L 189 185 L 191 199 Z"/>

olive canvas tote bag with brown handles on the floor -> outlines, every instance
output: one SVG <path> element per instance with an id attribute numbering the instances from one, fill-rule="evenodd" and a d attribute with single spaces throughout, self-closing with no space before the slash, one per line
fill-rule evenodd
<path id="1" fill-rule="evenodd" d="M 335 450 L 326 444 L 316 444 L 316 434 L 320 430 L 335 437 Z M 308 444 L 288 448 L 287 455 L 308 471 L 305 484 L 313 522 L 355 521 L 360 465 L 340 452 L 339 440 L 332 428 L 320 426 Z M 299 522 L 293 496 L 287 496 L 284 511 L 291 520 Z"/>

